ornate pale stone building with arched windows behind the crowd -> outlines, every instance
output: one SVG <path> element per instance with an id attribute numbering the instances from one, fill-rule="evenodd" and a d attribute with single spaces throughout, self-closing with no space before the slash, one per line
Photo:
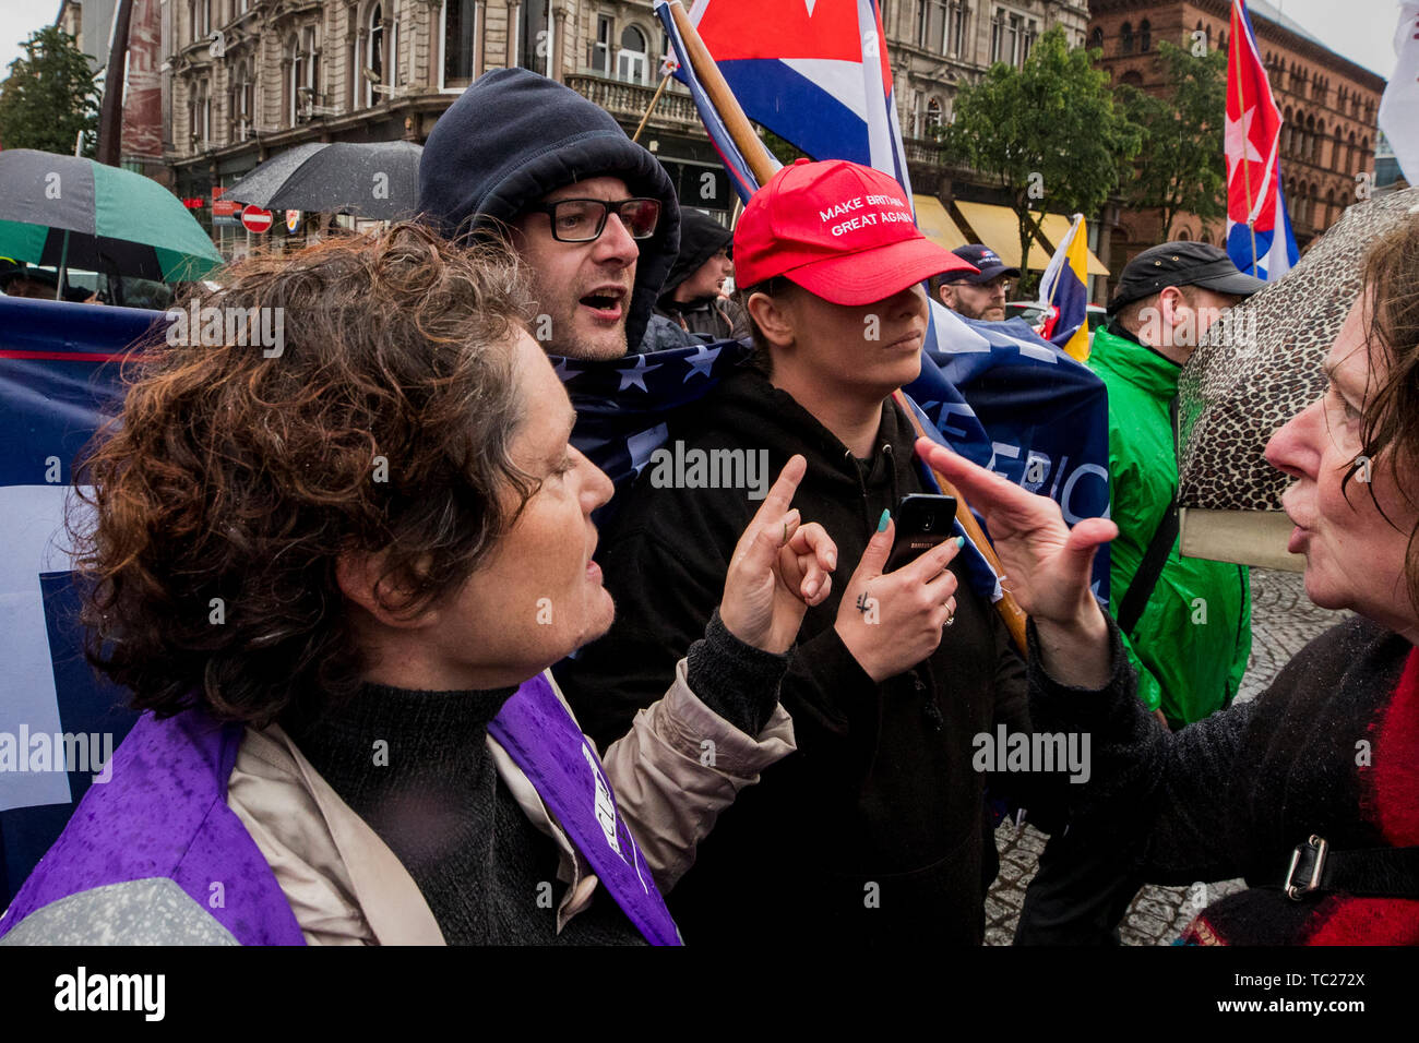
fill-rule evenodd
<path id="1" fill-rule="evenodd" d="M 648 0 L 160 0 L 166 156 L 177 193 L 207 199 L 308 140 L 423 142 L 474 78 L 521 65 L 566 82 L 634 131 L 658 84 L 666 34 Z M 948 187 L 932 125 L 999 61 L 1022 64 L 1087 0 L 884 0 L 902 129 L 921 189 Z M 690 96 L 661 96 L 643 143 L 692 206 L 728 210 L 728 180 Z M 210 219 L 197 210 L 204 221 Z M 219 236 L 220 238 L 220 236 Z"/>

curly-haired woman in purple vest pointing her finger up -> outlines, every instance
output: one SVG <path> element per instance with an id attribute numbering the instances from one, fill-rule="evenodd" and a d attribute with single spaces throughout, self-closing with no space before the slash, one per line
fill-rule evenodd
<path id="1" fill-rule="evenodd" d="M 834 549 L 796 460 L 597 758 L 543 671 L 610 626 L 610 482 L 524 299 L 509 255 L 396 226 L 236 267 L 193 312 L 221 335 L 148 352 L 78 536 L 92 658 L 150 712 L 6 941 L 678 939 L 657 884 L 793 748 L 782 653 Z"/>

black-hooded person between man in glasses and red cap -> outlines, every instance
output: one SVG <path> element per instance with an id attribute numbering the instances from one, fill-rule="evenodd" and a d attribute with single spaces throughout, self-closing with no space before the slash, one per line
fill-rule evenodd
<path id="1" fill-rule="evenodd" d="M 724 295 L 725 280 L 734 275 L 732 253 L 734 233 L 719 221 L 692 210 L 681 214 L 680 257 L 666 278 L 656 314 L 711 341 L 746 341 L 748 316 Z"/>

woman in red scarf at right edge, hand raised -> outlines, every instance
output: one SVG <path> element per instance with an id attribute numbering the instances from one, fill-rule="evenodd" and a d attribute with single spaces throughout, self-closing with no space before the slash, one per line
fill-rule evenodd
<path id="1" fill-rule="evenodd" d="M 990 522 L 1030 612 L 1030 714 L 1093 735 L 1074 815 L 1142 880 L 1246 877 L 1186 939 L 1419 944 L 1419 217 L 1375 243 L 1325 360 L 1330 387 L 1267 460 L 1305 555 L 1305 593 L 1358 613 L 1303 649 L 1254 702 L 1179 732 L 1134 698 L 1118 630 L 1088 593 L 1103 519 L 918 444 Z"/>

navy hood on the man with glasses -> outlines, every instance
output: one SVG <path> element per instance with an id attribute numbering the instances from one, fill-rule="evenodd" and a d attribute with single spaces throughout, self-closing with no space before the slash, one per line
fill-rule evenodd
<path id="1" fill-rule="evenodd" d="M 626 319 L 634 351 L 680 250 L 680 204 L 666 169 L 610 114 L 528 70 L 480 77 L 434 123 L 419 163 L 419 211 L 446 238 L 488 233 L 573 182 L 620 177 L 661 202 L 656 234 L 637 243 Z"/>

